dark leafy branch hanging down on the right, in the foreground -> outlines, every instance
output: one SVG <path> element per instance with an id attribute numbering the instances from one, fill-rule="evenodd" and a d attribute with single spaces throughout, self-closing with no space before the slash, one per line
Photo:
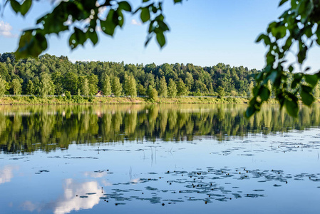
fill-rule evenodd
<path id="1" fill-rule="evenodd" d="M 301 65 L 309 49 L 320 46 L 320 1 L 282 0 L 279 6 L 287 1 L 289 9 L 285 10 L 277 21 L 270 23 L 267 32 L 257 39 L 257 42 L 264 42 L 268 51 L 265 56 L 266 66 L 255 77 L 257 84 L 246 111 L 247 117 L 260 111 L 262 103 L 268 100 L 271 94 L 267 87 L 268 81 L 272 83 L 275 98 L 279 101 L 281 108 L 285 107 L 291 116 L 298 115 L 299 99 L 306 106 L 311 106 L 314 102 L 312 91 L 318 83 L 320 71 L 309 74 L 306 73 L 309 67 L 302 70 Z M 294 62 L 289 62 L 287 58 L 288 54 L 296 52 L 296 44 L 298 45 L 296 54 L 298 66 L 294 66 Z M 284 71 L 293 73 L 291 83 L 289 83 L 289 75 Z"/>

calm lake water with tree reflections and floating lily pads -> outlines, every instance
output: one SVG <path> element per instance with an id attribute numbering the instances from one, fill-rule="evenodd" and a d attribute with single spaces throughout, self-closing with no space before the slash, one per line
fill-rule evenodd
<path id="1" fill-rule="evenodd" d="M 0 106 L 0 213 L 319 213 L 320 106 Z"/>

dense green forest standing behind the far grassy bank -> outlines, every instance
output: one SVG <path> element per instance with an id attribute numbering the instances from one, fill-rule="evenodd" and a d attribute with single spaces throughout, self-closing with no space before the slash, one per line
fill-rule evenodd
<path id="1" fill-rule="evenodd" d="M 212 67 L 191 63 L 124 64 L 72 63 L 66 56 L 45 54 L 16 61 L 14 54 L 0 55 L 0 96 L 4 94 L 157 96 L 249 96 L 258 71 L 218 63 Z"/>

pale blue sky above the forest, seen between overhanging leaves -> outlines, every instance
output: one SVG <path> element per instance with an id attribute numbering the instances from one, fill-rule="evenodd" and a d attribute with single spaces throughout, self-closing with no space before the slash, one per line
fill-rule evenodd
<path id="1" fill-rule="evenodd" d="M 131 0 L 133 9 L 142 0 Z M 32 28 L 36 19 L 52 10 L 49 0 L 35 1 L 26 17 L 14 14 L 7 6 L 0 16 L 0 53 L 15 51 L 22 29 Z M 123 29 L 116 29 L 113 37 L 98 32 L 96 46 L 87 41 L 71 51 L 68 37 L 71 33 L 48 38 L 48 49 L 43 54 L 68 56 L 71 61 L 115 61 L 125 63 L 193 63 L 214 66 L 225 63 L 262 69 L 267 48 L 255 43 L 286 9 L 278 7 L 279 0 L 188 0 L 173 4 L 163 0 L 165 21 L 170 27 L 167 44 L 160 49 L 155 39 L 144 46 L 148 25 L 140 17 L 125 16 Z M 306 64 L 319 68 L 318 49 L 311 50 Z M 294 60 L 293 56 L 291 60 Z"/>

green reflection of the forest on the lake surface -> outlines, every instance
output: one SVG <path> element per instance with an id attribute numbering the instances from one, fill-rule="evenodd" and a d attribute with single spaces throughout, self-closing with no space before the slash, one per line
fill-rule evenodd
<path id="1" fill-rule="evenodd" d="M 0 151 L 68 148 L 71 143 L 223 140 L 249 133 L 320 126 L 320 108 L 303 107 L 291 118 L 274 105 L 249 120 L 245 105 L 0 106 Z"/>

